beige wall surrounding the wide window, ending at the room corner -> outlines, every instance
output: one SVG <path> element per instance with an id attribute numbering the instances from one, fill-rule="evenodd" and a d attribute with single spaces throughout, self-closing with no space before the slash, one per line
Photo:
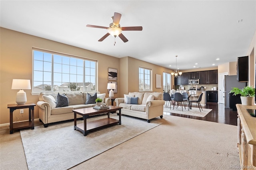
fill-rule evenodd
<path id="1" fill-rule="evenodd" d="M 77 55 L 84 58 L 98 60 L 98 91 L 108 96 L 108 67 L 119 70 L 119 58 L 81 49 L 71 45 L 46 40 L 36 36 L 30 36 L 5 28 L 0 28 L 1 51 L 0 51 L 0 124 L 10 122 L 8 104 L 15 103 L 18 90 L 12 90 L 12 79 L 30 79 L 32 81 L 32 47 L 58 51 Z M 118 77 L 120 72 L 118 71 Z M 118 84 L 118 89 L 120 85 Z M 27 102 L 37 103 L 38 95 L 31 95 L 32 90 L 24 90 Z M 116 96 L 119 95 L 115 93 Z M 14 121 L 28 120 L 28 109 L 24 114 L 14 111 Z M 23 117 L 22 117 L 23 116 Z M 18 119 L 16 119 L 16 117 Z M 35 119 L 38 116 L 38 107 L 35 107 Z"/>

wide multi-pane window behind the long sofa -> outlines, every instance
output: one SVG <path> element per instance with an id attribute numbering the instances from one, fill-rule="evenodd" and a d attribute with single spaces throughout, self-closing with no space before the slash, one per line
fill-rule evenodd
<path id="1" fill-rule="evenodd" d="M 95 91 L 97 61 L 33 50 L 33 92 Z"/>

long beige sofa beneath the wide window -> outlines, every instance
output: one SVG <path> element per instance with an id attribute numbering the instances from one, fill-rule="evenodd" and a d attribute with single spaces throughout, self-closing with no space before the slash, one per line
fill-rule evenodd
<path id="1" fill-rule="evenodd" d="M 89 94 L 93 95 L 95 93 L 97 93 L 98 97 L 104 99 L 103 101 L 104 103 L 106 103 L 106 105 L 110 105 L 111 100 L 109 98 L 105 98 L 105 95 L 106 95 L 105 93 L 104 93 L 105 95 L 100 94 L 99 92 L 92 92 Z M 85 104 L 87 93 L 70 92 L 70 93 L 63 93 L 63 94 L 66 95 L 66 97 L 68 98 L 68 106 L 56 107 L 56 101 L 54 104 L 54 102 L 50 99 L 52 99 L 53 97 L 56 100 L 58 93 L 40 93 L 37 106 L 39 107 L 39 119 L 44 123 L 44 127 L 48 127 L 48 123 L 74 119 L 74 112 L 72 112 L 73 109 L 94 107 L 96 105 L 96 103 Z M 77 115 L 77 118 L 79 117 L 82 117 L 82 116 Z"/>

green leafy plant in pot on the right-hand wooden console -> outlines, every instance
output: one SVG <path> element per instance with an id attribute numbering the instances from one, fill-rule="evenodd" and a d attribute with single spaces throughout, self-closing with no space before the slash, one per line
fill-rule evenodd
<path id="1" fill-rule="evenodd" d="M 252 86 L 246 86 L 242 89 L 237 87 L 232 87 L 232 90 L 229 93 L 234 93 L 234 95 L 241 95 L 242 105 L 252 105 L 253 97 L 255 96 L 255 88 Z"/>

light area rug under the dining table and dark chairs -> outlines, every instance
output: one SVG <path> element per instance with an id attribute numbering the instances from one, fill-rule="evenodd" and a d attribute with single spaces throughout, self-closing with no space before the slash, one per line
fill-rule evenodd
<path id="1" fill-rule="evenodd" d="M 181 107 L 174 107 L 173 109 L 173 106 L 172 108 L 170 109 L 170 107 L 164 107 L 164 112 L 168 112 L 168 113 L 178 113 L 178 114 L 182 114 L 182 115 L 190 115 L 190 116 L 197 116 L 197 117 L 205 117 L 210 111 L 212 111 L 212 109 L 204 109 L 199 110 L 198 107 L 192 107 L 192 109 L 189 109 L 188 111 L 188 108 L 186 107 L 186 109 L 184 109 L 183 107 L 183 111 L 182 111 L 182 108 Z"/>

